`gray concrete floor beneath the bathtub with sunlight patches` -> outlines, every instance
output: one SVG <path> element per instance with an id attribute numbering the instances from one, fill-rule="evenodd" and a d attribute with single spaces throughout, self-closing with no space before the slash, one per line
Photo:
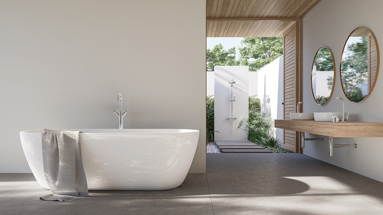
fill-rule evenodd
<path id="1" fill-rule="evenodd" d="M 0 174 L 1 215 L 379 215 L 383 183 L 300 154 L 207 154 L 207 173 L 164 191 L 98 191 L 73 202 L 32 174 Z"/>

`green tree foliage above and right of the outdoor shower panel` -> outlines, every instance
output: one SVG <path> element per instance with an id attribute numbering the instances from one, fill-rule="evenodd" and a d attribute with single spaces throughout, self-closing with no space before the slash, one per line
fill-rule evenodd
<path id="1" fill-rule="evenodd" d="M 239 47 L 240 63 L 257 71 L 283 54 L 282 37 L 245 37 Z M 254 62 L 249 62 L 254 59 Z"/>

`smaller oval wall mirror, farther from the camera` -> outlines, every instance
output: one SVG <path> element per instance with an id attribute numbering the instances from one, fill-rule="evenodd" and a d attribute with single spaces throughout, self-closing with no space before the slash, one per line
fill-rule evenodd
<path id="1" fill-rule="evenodd" d="M 327 46 L 315 54 L 311 68 L 311 90 L 318 105 L 326 105 L 334 89 L 334 56 Z"/>

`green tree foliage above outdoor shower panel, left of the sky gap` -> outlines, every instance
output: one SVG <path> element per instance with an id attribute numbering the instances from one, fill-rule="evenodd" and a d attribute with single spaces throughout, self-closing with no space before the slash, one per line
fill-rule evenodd
<path id="1" fill-rule="evenodd" d="M 235 47 L 226 51 L 221 44 L 214 46 L 212 50 L 206 50 L 207 71 L 214 71 L 214 66 L 239 66 L 235 52 Z"/>

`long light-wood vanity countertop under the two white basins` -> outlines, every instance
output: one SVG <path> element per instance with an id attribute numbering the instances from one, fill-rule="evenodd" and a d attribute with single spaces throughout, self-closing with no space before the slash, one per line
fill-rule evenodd
<path id="1" fill-rule="evenodd" d="M 383 137 L 383 123 L 317 122 L 315 120 L 276 119 L 274 127 L 332 137 Z"/>

